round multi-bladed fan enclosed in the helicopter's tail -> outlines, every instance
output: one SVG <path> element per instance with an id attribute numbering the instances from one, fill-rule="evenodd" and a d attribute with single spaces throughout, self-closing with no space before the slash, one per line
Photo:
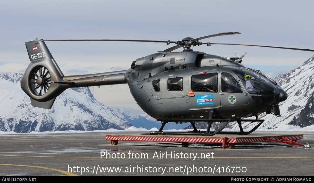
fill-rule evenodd
<path id="1" fill-rule="evenodd" d="M 44 95 L 49 90 L 50 81 L 50 73 L 46 67 L 35 67 L 30 76 L 31 90 L 35 95 Z"/>

